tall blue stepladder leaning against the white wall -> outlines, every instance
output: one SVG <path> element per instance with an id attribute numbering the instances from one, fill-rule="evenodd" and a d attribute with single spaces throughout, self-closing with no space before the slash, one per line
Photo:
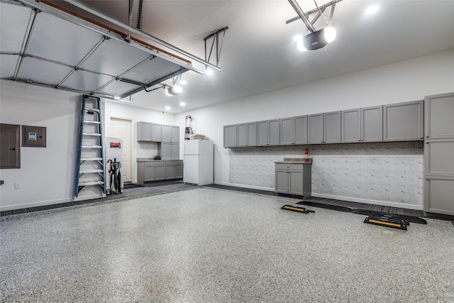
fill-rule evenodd
<path id="1" fill-rule="evenodd" d="M 100 186 L 102 193 L 106 194 L 101 114 L 101 100 L 84 95 L 80 115 L 75 197 L 86 186 Z"/>

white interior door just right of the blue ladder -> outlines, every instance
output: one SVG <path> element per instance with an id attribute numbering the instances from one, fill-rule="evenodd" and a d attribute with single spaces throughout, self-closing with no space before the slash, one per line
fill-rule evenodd
<path id="1" fill-rule="evenodd" d="M 123 182 L 131 182 L 131 120 L 112 118 L 109 121 L 109 137 L 123 141 Z"/>

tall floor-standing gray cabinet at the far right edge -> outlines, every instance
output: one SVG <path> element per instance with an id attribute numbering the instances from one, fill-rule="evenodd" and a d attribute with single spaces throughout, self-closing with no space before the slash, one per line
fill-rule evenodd
<path id="1" fill-rule="evenodd" d="M 424 100 L 423 210 L 454 216 L 454 93 Z"/>

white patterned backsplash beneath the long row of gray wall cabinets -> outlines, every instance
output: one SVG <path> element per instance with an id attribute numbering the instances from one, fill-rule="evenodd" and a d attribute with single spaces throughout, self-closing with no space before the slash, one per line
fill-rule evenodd
<path id="1" fill-rule="evenodd" d="M 231 148 L 230 182 L 275 187 L 275 161 L 309 148 L 312 192 L 422 206 L 423 143 L 353 143 Z"/>

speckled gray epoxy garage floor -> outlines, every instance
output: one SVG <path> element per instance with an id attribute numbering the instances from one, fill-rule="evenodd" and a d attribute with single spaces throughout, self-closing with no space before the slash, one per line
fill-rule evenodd
<path id="1" fill-rule="evenodd" d="M 196 188 L 1 218 L 0 302 L 454 302 L 454 227 Z"/>

